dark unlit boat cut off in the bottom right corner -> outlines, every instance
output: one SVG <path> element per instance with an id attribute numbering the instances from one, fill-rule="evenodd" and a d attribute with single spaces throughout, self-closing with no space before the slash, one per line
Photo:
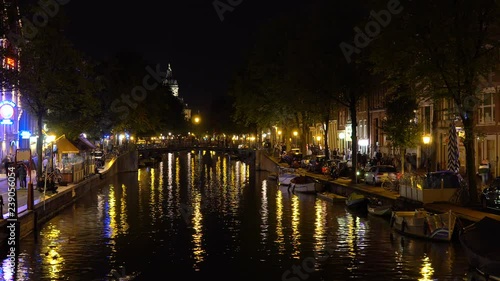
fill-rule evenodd
<path id="1" fill-rule="evenodd" d="M 469 265 L 488 280 L 500 280 L 500 221 L 484 217 L 464 227 L 458 237 Z"/>

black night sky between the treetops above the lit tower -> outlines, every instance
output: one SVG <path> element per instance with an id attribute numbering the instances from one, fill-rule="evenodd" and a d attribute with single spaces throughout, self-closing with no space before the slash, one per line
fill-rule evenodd
<path id="1" fill-rule="evenodd" d="M 243 63 L 253 34 L 266 20 L 290 8 L 290 1 L 218 0 L 238 3 L 221 21 L 213 0 L 71 0 L 70 39 L 96 58 L 120 50 L 142 53 L 151 64 L 170 63 L 179 96 L 194 111 L 227 92 L 232 72 Z M 145 73 L 146 74 L 146 73 Z"/>

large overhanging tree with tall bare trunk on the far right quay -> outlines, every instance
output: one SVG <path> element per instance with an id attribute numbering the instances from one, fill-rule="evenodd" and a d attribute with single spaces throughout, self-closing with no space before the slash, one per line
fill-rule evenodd
<path id="1" fill-rule="evenodd" d="M 409 80 L 423 85 L 424 97 L 454 103 L 465 131 L 466 172 L 470 202 L 476 203 L 475 136 L 481 80 L 498 65 L 499 4 L 495 0 L 413 1 L 393 18 L 380 38 L 385 60 Z M 382 53 L 382 52 L 381 52 Z M 396 59 L 395 59 L 396 58 Z M 386 73 L 392 73 L 385 64 Z"/>

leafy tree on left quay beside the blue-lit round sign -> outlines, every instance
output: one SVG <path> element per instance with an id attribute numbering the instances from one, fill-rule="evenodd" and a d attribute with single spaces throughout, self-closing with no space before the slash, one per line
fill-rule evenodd
<path id="1" fill-rule="evenodd" d="M 36 6 L 35 11 L 41 9 Z M 65 19 L 61 11 L 36 36 L 20 40 L 21 71 L 16 75 L 21 100 L 37 119 L 37 174 L 43 159 L 44 122 L 51 112 L 65 106 L 78 114 L 90 114 L 81 106 L 80 95 L 88 93 L 81 71 L 85 69 L 81 54 L 64 37 Z M 87 108 L 89 109 L 89 108 Z M 95 110 L 90 108 L 90 110 Z M 67 111 L 66 111 L 67 112 Z M 75 113 L 72 111 L 72 113 Z M 50 127 L 50 124 L 49 124 Z"/>

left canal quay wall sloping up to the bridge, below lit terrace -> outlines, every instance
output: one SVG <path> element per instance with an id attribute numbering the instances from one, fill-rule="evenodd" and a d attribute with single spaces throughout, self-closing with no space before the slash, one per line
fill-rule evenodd
<path id="1" fill-rule="evenodd" d="M 113 177 L 122 172 L 136 172 L 138 170 L 138 163 L 137 151 L 124 152 L 118 157 L 109 160 L 105 169 L 100 173 L 91 175 L 78 183 L 59 186 L 57 194 L 51 195 L 45 200 L 35 201 L 33 210 L 24 210 L 18 214 L 19 239 L 37 231 L 38 227 L 43 223 L 56 216 L 65 208 L 73 205 L 80 197 L 100 188 L 105 183 L 106 178 Z M 34 190 L 34 192 L 38 191 Z M 19 204 L 22 204 L 22 202 L 19 202 Z M 10 232 L 7 224 L 7 220 L 0 222 L 0 243 L 2 246 L 6 245 L 6 238 Z"/>

